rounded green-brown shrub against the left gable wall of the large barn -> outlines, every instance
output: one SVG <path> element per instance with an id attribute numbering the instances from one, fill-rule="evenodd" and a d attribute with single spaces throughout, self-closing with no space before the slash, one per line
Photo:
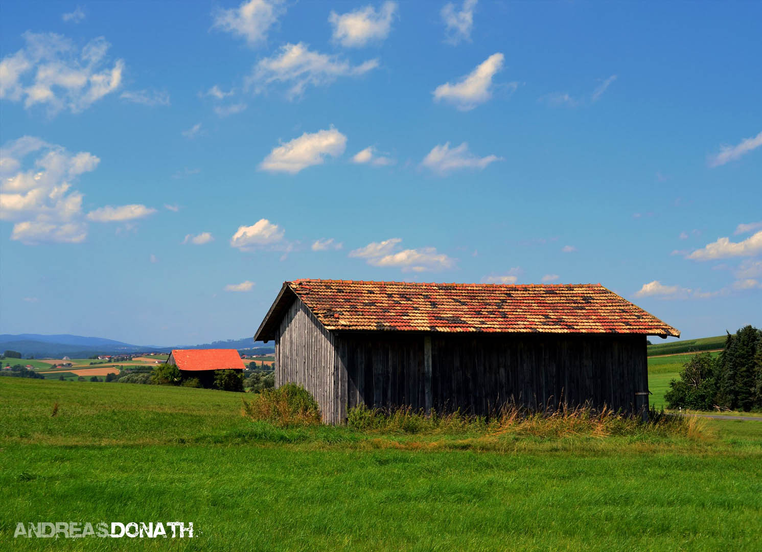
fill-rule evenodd
<path id="1" fill-rule="evenodd" d="M 243 401 L 243 414 L 275 425 L 315 425 L 321 422 L 320 407 L 304 387 L 285 384 L 265 389 L 251 403 Z"/>

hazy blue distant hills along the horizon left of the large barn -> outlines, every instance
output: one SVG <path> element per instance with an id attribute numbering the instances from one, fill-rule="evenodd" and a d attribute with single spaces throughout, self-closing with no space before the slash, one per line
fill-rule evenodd
<path id="1" fill-rule="evenodd" d="M 35 358 L 61 358 L 63 356 L 87 358 L 92 355 L 118 355 L 148 351 L 169 352 L 172 349 L 178 348 L 247 349 L 249 353 L 251 353 L 251 349 L 256 349 L 256 352 L 261 354 L 274 351 L 272 346 L 255 343 L 250 337 L 203 343 L 201 345 L 159 347 L 157 345 L 133 345 L 115 341 L 114 339 L 70 334 L 42 335 L 24 333 L 18 335 L 0 335 L 0 354 L 2 354 L 2 351 L 10 349 L 11 351 L 20 352 L 24 357 L 34 355 Z"/>

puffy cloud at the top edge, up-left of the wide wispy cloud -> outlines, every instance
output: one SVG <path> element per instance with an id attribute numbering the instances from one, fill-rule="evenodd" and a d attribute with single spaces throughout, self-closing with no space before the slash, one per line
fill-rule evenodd
<path id="1" fill-rule="evenodd" d="M 238 8 L 217 8 L 213 27 L 245 38 L 250 46 L 267 40 L 267 31 L 286 12 L 281 0 L 250 0 Z"/>

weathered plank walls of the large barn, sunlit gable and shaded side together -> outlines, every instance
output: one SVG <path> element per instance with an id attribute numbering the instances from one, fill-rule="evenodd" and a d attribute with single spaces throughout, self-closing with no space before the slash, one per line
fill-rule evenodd
<path id="1" fill-rule="evenodd" d="M 512 401 L 589 401 L 637 411 L 648 371 L 643 335 L 336 334 L 296 299 L 275 339 L 276 387 L 286 382 L 315 396 L 324 422 L 341 423 L 360 404 L 488 414 Z"/>

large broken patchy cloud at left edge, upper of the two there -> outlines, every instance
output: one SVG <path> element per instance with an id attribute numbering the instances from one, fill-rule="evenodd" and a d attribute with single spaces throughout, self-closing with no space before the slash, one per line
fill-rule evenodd
<path id="1" fill-rule="evenodd" d="M 120 87 L 124 62 L 106 63 L 104 37 L 81 50 L 59 34 L 23 35 L 26 45 L 0 62 L 0 98 L 23 101 L 24 108 L 46 105 L 51 115 L 64 109 L 84 111 Z"/>

